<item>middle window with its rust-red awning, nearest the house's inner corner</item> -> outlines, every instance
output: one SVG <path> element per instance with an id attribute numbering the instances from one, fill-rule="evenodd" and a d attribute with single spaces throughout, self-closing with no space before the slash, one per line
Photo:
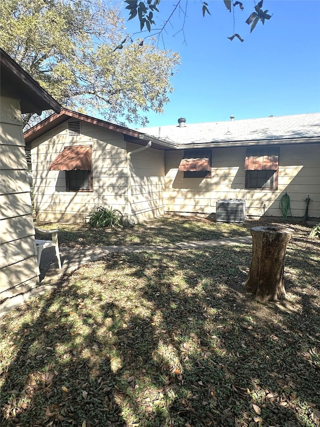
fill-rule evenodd
<path id="1" fill-rule="evenodd" d="M 184 150 L 178 170 L 184 178 L 210 178 L 211 157 L 211 150 Z"/>

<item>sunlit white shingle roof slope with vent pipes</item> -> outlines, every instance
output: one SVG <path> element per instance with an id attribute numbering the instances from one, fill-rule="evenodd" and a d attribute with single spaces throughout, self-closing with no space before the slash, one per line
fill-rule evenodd
<path id="1" fill-rule="evenodd" d="M 225 122 L 185 123 L 145 127 L 139 132 L 176 145 L 201 145 L 272 140 L 301 140 L 320 138 L 320 113 L 266 117 L 262 119 L 233 119 Z"/>

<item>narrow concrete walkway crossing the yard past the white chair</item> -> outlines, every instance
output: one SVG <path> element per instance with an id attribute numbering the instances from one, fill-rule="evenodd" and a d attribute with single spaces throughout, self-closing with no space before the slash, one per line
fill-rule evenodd
<path id="1" fill-rule="evenodd" d="M 77 248 L 60 248 L 60 257 L 62 269 L 58 268 L 57 260 L 55 257 L 54 248 L 50 247 L 44 249 L 41 256 L 40 264 L 40 283 L 36 287 L 27 292 L 14 295 L 5 299 L 0 303 L 0 317 L 8 311 L 22 305 L 28 299 L 41 295 L 50 290 L 62 276 L 72 273 L 80 265 L 87 264 L 88 262 L 97 261 L 112 252 L 167 252 L 189 250 L 204 247 L 213 247 L 221 245 L 237 245 L 237 244 L 251 244 L 252 237 L 231 237 L 216 240 L 203 240 L 199 242 L 181 242 L 170 245 L 152 245 L 152 246 L 100 246 L 89 247 L 84 249 Z"/>

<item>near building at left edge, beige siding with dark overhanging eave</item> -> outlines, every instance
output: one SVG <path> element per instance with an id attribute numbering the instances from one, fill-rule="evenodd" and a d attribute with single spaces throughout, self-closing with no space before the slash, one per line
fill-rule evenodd
<path id="1" fill-rule="evenodd" d="M 21 113 L 43 110 L 60 105 L 0 49 L 0 300 L 38 281 Z"/>

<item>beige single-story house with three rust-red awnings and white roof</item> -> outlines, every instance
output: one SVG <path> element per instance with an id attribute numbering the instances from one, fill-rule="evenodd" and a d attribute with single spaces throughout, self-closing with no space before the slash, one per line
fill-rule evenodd
<path id="1" fill-rule="evenodd" d="M 137 223 L 233 201 L 282 216 L 285 193 L 294 217 L 307 201 L 320 217 L 320 113 L 133 130 L 61 109 L 24 137 L 40 221 L 79 222 L 102 205 Z"/>

